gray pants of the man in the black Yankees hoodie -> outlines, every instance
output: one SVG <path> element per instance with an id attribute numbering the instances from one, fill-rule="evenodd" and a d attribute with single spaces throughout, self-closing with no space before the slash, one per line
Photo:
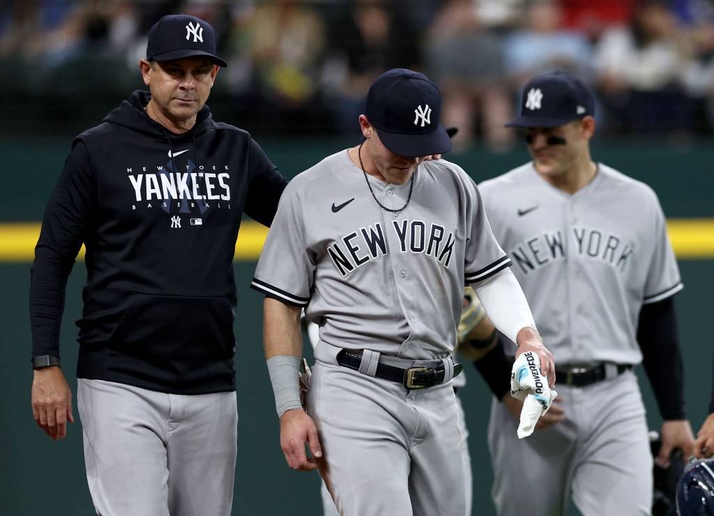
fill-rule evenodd
<path id="1" fill-rule="evenodd" d="M 77 400 L 97 514 L 231 514 L 235 392 L 174 395 L 80 378 Z"/>

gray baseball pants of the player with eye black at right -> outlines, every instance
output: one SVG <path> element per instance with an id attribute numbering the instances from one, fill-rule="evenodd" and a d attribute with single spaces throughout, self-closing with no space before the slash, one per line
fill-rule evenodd
<path id="1" fill-rule="evenodd" d="M 501 516 L 650 514 L 653 457 L 637 377 L 627 371 L 583 388 L 555 384 L 565 421 L 518 439 L 518 421 L 494 401 L 488 428 L 493 502 Z"/>

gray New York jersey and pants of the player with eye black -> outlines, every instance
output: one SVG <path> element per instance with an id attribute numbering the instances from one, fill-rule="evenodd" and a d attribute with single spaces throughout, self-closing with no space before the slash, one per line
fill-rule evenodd
<path id="1" fill-rule="evenodd" d="M 651 188 L 599 164 L 593 181 L 570 195 L 528 163 L 479 189 L 556 368 L 640 363 L 640 308 L 682 288 Z M 498 513 L 538 507 L 562 515 L 572 495 L 584 515 L 649 514 L 653 459 L 636 376 L 608 373 L 582 388 L 562 380 L 555 388 L 565 420 L 526 439 L 516 437 L 518 422 L 503 403 L 492 405 Z M 518 490 L 528 496 L 513 496 Z"/>

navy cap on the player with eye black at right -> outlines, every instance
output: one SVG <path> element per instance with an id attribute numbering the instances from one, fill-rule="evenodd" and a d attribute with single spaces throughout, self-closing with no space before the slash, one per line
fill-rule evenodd
<path id="1" fill-rule="evenodd" d="M 521 116 L 506 123 L 507 127 L 557 127 L 595 115 L 595 101 L 585 83 L 554 71 L 533 77 L 523 87 Z"/>

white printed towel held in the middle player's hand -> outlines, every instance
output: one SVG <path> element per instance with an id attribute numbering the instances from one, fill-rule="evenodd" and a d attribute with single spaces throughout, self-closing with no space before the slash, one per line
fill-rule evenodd
<path id="1" fill-rule="evenodd" d="M 521 354 L 511 370 L 511 396 L 523 402 L 518 438 L 528 437 L 535 430 L 538 418 L 548 412 L 558 393 L 548 386 L 548 378 L 540 374 L 540 358 L 532 351 Z"/>

